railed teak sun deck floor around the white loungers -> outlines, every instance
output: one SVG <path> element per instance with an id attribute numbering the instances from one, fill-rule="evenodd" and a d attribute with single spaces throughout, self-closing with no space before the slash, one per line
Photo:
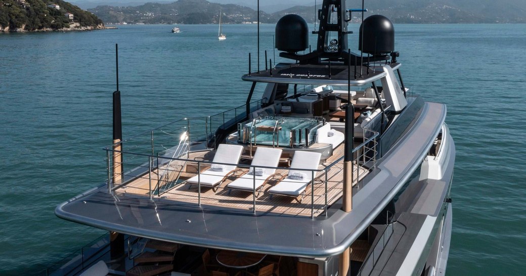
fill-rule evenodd
<path id="1" fill-rule="evenodd" d="M 238 166 L 242 171 L 227 178 L 220 184 L 217 191 L 201 186 L 199 193 L 198 185 L 188 184 L 185 181 L 191 176 L 197 175 L 197 164 L 192 161 L 211 162 L 213 156 L 213 151 L 192 153 L 188 156 L 189 161 L 185 162 L 186 164 L 181 165 L 181 163 L 178 163 L 169 164 L 169 167 L 168 165 L 161 166 L 160 170 L 153 170 L 151 174 L 145 173 L 135 180 L 119 186 L 115 192 L 149 196 L 151 191 L 150 178 L 151 183 L 157 184 L 159 182 L 158 172 L 160 171 L 160 174 L 163 175 L 169 171 L 169 179 L 165 179 L 163 182 L 169 185 L 169 187 L 160 187 L 160 192 L 157 192 L 154 196 L 179 202 L 198 204 L 198 201 L 200 201 L 201 204 L 240 210 L 252 210 L 255 204 L 257 212 L 318 216 L 325 213 L 326 207 L 335 203 L 342 196 L 343 161 L 340 160 L 332 166 L 330 165 L 343 156 L 343 144 L 336 147 L 333 155 L 319 165 L 318 169 L 324 171 L 320 172 L 317 178 L 315 178 L 313 187 L 308 186 L 305 194 L 302 196 L 301 202 L 288 196 L 271 196 L 267 191 L 272 185 L 275 185 L 278 180 L 270 180 L 268 184 L 263 187 L 261 195 L 258 198 L 255 198 L 254 193 L 251 191 L 230 190 L 227 188 L 229 183 L 248 171 L 248 168 L 242 168 L 242 166 L 250 163 L 249 160 L 246 159 L 242 159 L 242 162 L 240 162 Z M 328 166 L 330 166 L 330 169 L 325 170 Z M 203 164 L 201 171 L 207 169 L 207 167 L 209 167 L 209 164 Z M 356 169 L 353 171 L 353 186 L 357 185 L 360 180 L 370 173 L 370 170 L 366 167 L 355 167 Z M 277 170 L 277 173 L 285 175 L 288 173 L 288 170 L 282 167 Z M 161 177 L 161 179 L 163 178 Z"/>

